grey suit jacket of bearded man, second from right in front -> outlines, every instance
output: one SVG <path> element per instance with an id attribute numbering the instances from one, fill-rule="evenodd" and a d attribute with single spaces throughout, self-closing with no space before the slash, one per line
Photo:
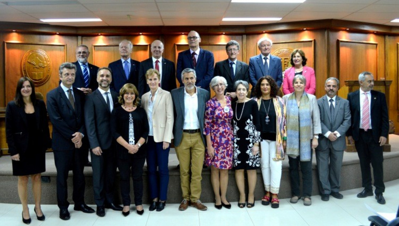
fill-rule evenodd
<path id="1" fill-rule="evenodd" d="M 349 101 L 336 96 L 335 98 L 335 110 L 334 110 L 334 124 L 331 123 L 330 106 L 328 104 L 328 98 L 326 95 L 317 100 L 317 104 L 320 109 L 320 121 L 322 126 L 322 135 L 319 136 L 319 145 L 316 149 L 326 150 L 330 144 L 330 140 L 324 136 L 326 132 L 337 131 L 340 133 L 340 137 L 332 142 L 334 150 L 342 151 L 346 148 L 345 134 L 350 127 L 351 116 Z"/>

